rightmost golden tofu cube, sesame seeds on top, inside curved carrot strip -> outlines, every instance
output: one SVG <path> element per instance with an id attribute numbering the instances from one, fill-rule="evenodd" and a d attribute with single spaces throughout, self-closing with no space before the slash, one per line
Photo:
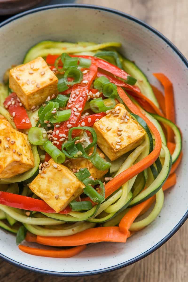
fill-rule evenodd
<path id="1" fill-rule="evenodd" d="M 110 160 L 116 160 L 143 142 L 145 130 L 122 104 L 95 122 L 97 144 Z"/>

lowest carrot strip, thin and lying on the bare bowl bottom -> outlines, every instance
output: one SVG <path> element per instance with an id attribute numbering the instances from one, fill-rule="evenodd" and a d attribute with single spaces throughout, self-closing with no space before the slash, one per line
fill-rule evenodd
<path id="1" fill-rule="evenodd" d="M 38 248 L 31 248 L 24 245 L 19 245 L 18 247 L 22 252 L 25 252 L 30 255 L 39 255 L 41 257 L 66 258 L 73 257 L 74 255 L 79 254 L 81 251 L 85 250 L 86 245 L 77 246 L 67 250 L 44 250 Z"/>

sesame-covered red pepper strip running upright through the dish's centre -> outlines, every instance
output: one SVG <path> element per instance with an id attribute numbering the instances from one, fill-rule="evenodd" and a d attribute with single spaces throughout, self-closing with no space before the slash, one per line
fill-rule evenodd
<path id="1" fill-rule="evenodd" d="M 61 148 L 61 145 L 65 140 L 65 139 L 62 140 L 62 137 L 65 138 L 65 136 L 68 136 L 69 128 L 73 126 L 77 126 L 81 113 L 85 107 L 85 103 L 87 101 L 87 94 L 89 93 L 91 83 L 96 77 L 96 75 L 97 75 L 97 66 L 95 64 L 92 64 L 87 74 L 83 75 L 83 81 L 87 81 L 87 83 L 81 82 L 73 86 L 72 92 L 70 94 L 70 98 L 67 103 L 67 109 L 71 109 L 70 118 L 69 120 L 62 122 L 60 124 L 61 126 L 58 128 L 58 135 L 56 135 L 57 132 L 56 126 L 54 126 L 54 131 L 52 133 L 53 137 L 57 138 L 58 143 L 54 144 L 57 146 L 57 148 Z"/>

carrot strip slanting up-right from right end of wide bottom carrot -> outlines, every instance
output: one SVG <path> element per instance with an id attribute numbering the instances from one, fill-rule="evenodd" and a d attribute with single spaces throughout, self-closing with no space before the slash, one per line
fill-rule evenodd
<path id="1" fill-rule="evenodd" d="M 141 213 L 141 211 L 147 207 L 147 205 L 155 199 L 155 196 L 149 198 L 148 200 L 132 207 L 121 219 L 119 223 L 120 231 L 124 232 L 125 234 L 128 233 L 131 224 L 134 222 L 136 217 Z"/>

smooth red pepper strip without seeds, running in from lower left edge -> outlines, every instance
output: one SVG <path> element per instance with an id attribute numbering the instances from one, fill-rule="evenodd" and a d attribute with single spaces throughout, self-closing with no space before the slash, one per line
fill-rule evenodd
<path id="1" fill-rule="evenodd" d="M 22 210 L 56 213 L 56 211 L 50 208 L 50 206 L 42 200 L 4 191 L 0 191 L 0 204 Z M 66 214 L 70 211 L 72 211 L 72 209 L 67 206 L 63 211 L 60 211 L 60 213 Z"/>

